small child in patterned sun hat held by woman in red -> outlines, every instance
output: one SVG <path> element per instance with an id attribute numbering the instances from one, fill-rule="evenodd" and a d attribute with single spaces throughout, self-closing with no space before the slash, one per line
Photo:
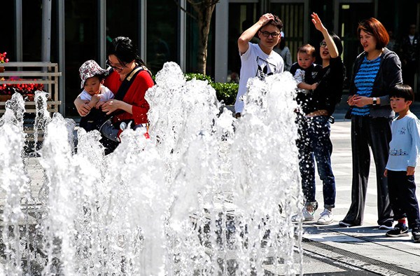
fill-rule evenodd
<path id="1" fill-rule="evenodd" d="M 113 92 L 104 86 L 106 69 L 94 60 L 87 60 L 80 66 L 79 73 L 80 88 L 83 88 L 80 99 L 89 101 L 87 105 L 91 108 L 90 113 L 80 119 L 80 127 L 86 131 L 99 130 L 99 126 L 106 120 L 106 113 L 102 111 L 101 106 L 114 97 Z"/>

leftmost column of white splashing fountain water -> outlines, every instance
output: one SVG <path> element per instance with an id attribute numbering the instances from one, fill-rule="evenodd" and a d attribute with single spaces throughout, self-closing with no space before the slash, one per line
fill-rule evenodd
<path id="1" fill-rule="evenodd" d="M 22 151 L 25 144 L 22 96 L 15 93 L 6 102 L 6 113 L 0 119 L 0 187 L 6 197 L 1 197 L 1 244 L 6 262 L 4 275 L 22 275 L 22 254 L 25 240 L 20 239 L 20 227 L 27 226 L 21 209 L 21 195 L 26 196 L 29 187 L 24 172 Z"/>

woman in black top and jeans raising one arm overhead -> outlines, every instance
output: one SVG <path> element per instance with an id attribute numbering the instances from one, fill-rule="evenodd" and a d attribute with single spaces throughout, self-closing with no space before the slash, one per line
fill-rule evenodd
<path id="1" fill-rule="evenodd" d="M 332 208 L 335 207 L 335 177 L 331 167 L 332 142 L 330 139 L 330 119 L 335 106 L 342 97 L 344 64 L 340 57 L 342 43 L 335 34 L 328 33 L 316 13 L 311 15 L 315 28 L 323 35 L 319 54 L 322 68 L 318 72 L 318 85 L 307 95 L 301 112 L 300 137 L 297 148 L 300 154 L 300 174 L 304 194 L 304 221 L 314 219 L 318 207 L 315 197 L 315 160 L 318 174 L 323 182 L 323 212 L 318 224 L 330 224 L 334 220 Z M 306 78 L 305 78 L 306 79 Z M 314 160 L 315 159 L 315 160 Z M 297 216 L 292 219 L 296 220 Z"/>

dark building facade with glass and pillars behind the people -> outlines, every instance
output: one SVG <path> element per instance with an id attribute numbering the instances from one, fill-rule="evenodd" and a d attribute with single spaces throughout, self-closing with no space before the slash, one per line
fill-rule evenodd
<path id="1" fill-rule="evenodd" d="M 73 99 L 80 92 L 80 64 L 93 59 L 105 67 L 106 46 L 113 37 L 133 39 L 154 74 L 167 61 L 184 72 L 197 71 L 197 24 L 183 11 L 191 11 L 186 0 L 3 0 L 2 7 L 6 28 L 0 51 L 10 61 L 57 62 L 63 73 L 60 112 L 66 117 L 77 116 Z M 221 0 L 211 22 L 207 57 L 207 74 L 215 81 L 239 73 L 237 38 L 267 12 L 283 21 L 293 61 L 298 46 L 317 46 L 321 40 L 310 20 L 311 12 L 318 13 L 342 38 L 348 78 L 360 53 L 360 20 L 377 18 L 396 41 L 409 25 L 420 27 L 420 0 Z"/>

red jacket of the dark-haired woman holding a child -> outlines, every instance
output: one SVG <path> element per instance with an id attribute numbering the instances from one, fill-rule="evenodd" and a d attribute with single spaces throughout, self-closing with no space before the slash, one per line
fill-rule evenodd
<path id="1" fill-rule="evenodd" d="M 121 83 L 120 81 L 120 74 L 116 71 L 113 71 L 109 76 L 106 77 L 104 85 L 108 87 L 114 95 L 118 92 L 118 88 L 120 88 Z M 113 117 L 113 123 L 116 123 L 118 120 L 134 120 L 134 125 L 139 125 L 140 123 L 148 123 L 147 119 L 147 112 L 150 108 L 146 99 L 144 99 L 144 95 L 146 95 L 146 91 L 148 88 L 153 86 L 153 79 L 151 75 L 148 74 L 146 70 L 142 70 L 137 74 L 136 78 L 134 79 L 132 85 L 128 89 L 127 93 L 124 96 L 123 101 L 127 104 L 132 105 L 132 114 L 128 112 L 118 113 L 116 116 Z"/>

